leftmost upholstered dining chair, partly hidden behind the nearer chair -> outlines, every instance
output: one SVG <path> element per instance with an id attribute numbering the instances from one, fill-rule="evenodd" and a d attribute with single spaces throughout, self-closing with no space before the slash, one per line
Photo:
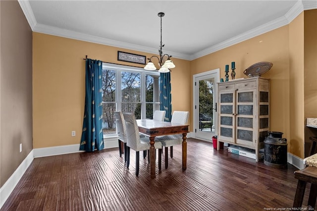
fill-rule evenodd
<path id="1" fill-rule="evenodd" d="M 115 125 L 117 128 L 117 133 L 118 133 L 118 143 L 119 143 L 119 154 L 120 157 L 122 155 L 122 147 L 121 147 L 121 142 L 123 142 L 124 146 L 124 162 L 127 161 L 127 132 L 126 132 L 126 127 L 125 127 L 125 121 L 123 118 L 123 114 L 121 111 L 115 111 L 114 112 L 114 119 L 115 119 Z"/>

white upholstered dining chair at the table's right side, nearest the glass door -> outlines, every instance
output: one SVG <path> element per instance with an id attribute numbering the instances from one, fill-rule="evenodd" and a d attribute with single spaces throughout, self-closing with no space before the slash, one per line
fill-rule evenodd
<path id="1" fill-rule="evenodd" d="M 189 117 L 188 111 L 174 111 L 172 114 L 171 122 L 178 124 L 187 124 Z M 173 146 L 181 144 L 183 142 L 183 135 L 166 135 L 157 136 L 155 139 L 162 143 L 162 147 L 165 148 L 165 169 L 168 167 L 168 147 L 170 147 L 170 157 L 173 158 Z"/>

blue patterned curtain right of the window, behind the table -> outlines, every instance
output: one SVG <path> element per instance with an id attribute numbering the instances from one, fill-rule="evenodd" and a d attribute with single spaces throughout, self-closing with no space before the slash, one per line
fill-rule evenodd
<path id="1" fill-rule="evenodd" d="M 172 115 L 172 94 L 170 86 L 170 72 L 159 73 L 159 101 L 160 110 L 165 110 L 165 121 L 170 122 Z"/>

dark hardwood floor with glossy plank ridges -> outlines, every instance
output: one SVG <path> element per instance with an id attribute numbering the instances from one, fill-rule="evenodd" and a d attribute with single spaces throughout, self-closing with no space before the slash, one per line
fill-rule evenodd
<path id="1" fill-rule="evenodd" d="M 266 166 L 254 159 L 213 150 L 212 143 L 187 139 L 187 170 L 181 145 L 155 179 L 140 153 L 130 167 L 118 148 L 35 158 L 1 211 L 263 211 L 291 209 L 297 180 L 294 166 Z M 157 158 L 158 160 L 158 158 Z M 157 161 L 158 166 L 158 161 Z M 306 192 L 309 191 L 309 188 Z M 305 193 L 303 205 L 307 205 Z"/>

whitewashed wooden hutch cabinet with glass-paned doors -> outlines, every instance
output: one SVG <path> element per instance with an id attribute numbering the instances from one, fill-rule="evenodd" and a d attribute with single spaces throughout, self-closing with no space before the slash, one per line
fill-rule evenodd
<path id="1" fill-rule="evenodd" d="M 269 131 L 269 80 L 253 77 L 217 83 L 217 86 L 217 142 L 254 149 L 258 161 Z"/>

